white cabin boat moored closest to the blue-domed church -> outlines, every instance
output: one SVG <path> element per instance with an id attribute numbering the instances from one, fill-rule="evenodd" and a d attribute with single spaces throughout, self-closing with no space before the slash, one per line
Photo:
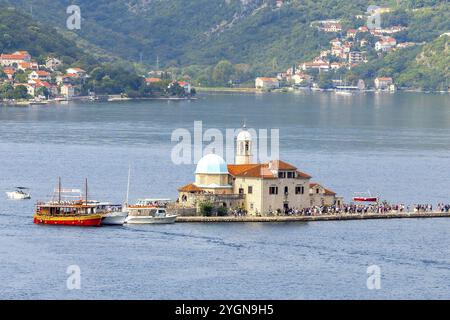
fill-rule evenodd
<path id="1" fill-rule="evenodd" d="M 170 224 L 177 216 L 167 212 L 168 199 L 141 199 L 135 205 L 127 206 L 128 224 Z"/>

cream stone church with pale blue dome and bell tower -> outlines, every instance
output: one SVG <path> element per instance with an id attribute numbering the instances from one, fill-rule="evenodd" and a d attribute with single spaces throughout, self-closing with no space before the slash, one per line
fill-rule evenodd
<path id="1" fill-rule="evenodd" d="M 177 206 L 199 211 L 208 202 L 249 215 L 267 215 L 342 204 L 336 193 L 311 184 L 310 175 L 287 162 L 254 162 L 252 150 L 252 136 L 244 127 L 236 139 L 235 163 L 227 164 L 216 154 L 204 156 L 197 164 L 195 182 L 178 189 Z"/>

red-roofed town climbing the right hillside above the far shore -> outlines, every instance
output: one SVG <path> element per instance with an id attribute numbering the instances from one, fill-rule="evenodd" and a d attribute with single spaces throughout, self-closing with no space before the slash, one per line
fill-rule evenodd
<path id="1" fill-rule="evenodd" d="M 280 1 L 282 5 L 282 1 Z M 390 12 L 387 7 L 376 7 L 368 11 L 368 15 Z M 367 15 L 355 17 L 359 21 L 366 21 Z M 369 51 L 378 56 L 387 52 L 402 50 L 418 45 L 413 42 L 400 42 L 396 34 L 407 30 L 407 27 L 392 25 L 389 27 L 371 27 L 361 25 L 357 28 L 344 29 L 340 19 L 315 21 L 311 27 L 319 32 L 335 35 L 329 41 L 329 47 L 310 61 L 295 63 L 286 71 L 279 72 L 276 77 L 257 77 L 255 88 L 264 91 L 280 88 L 308 88 L 313 90 L 363 91 L 396 91 L 395 79 L 390 75 L 374 77 L 373 84 L 368 85 L 362 79 L 343 79 L 340 74 L 345 70 L 369 62 Z M 334 71 L 333 74 L 331 74 Z"/>

